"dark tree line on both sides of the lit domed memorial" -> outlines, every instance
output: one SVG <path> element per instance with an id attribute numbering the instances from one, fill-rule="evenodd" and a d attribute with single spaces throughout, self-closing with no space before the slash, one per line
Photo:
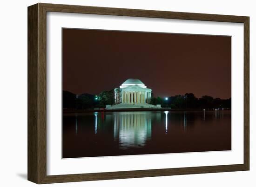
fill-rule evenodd
<path id="1" fill-rule="evenodd" d="M 153 95 L 153 94 L 152 94 Z M 216 109 L 216 108 L 231 108 L 231 98 L 221 99 L 211 96 L 195 97 L 193 93 L 185 95 L 176 95 L 172 97 L 154 97 L 151 98 L 150 104 L 161 104 L 164 108 L 172 109 Z M 62 106 L 64 109 L 90 109 L 90 108 L 105 108 L 107 104 L 114 104 L 114 89 L 102 91 L 99 95 L 88 93 L 76 95 L 72 92 L 63 90 Z"/>

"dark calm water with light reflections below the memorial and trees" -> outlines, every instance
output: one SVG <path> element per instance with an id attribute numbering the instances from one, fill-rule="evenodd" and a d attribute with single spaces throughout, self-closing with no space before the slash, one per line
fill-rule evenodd
<path id="1" fill-rule="evenodd" d="M 231 150 L 231 111 L 64 114 L 63 158 Z"/>

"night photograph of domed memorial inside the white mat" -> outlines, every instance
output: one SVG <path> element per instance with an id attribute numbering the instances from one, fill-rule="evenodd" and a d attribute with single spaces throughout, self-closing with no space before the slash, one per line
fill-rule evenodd
<path id="1" fill-rule="evenodd" d="M 231 37 L 62 28 L 62 159 L 230 151 Z"/>

